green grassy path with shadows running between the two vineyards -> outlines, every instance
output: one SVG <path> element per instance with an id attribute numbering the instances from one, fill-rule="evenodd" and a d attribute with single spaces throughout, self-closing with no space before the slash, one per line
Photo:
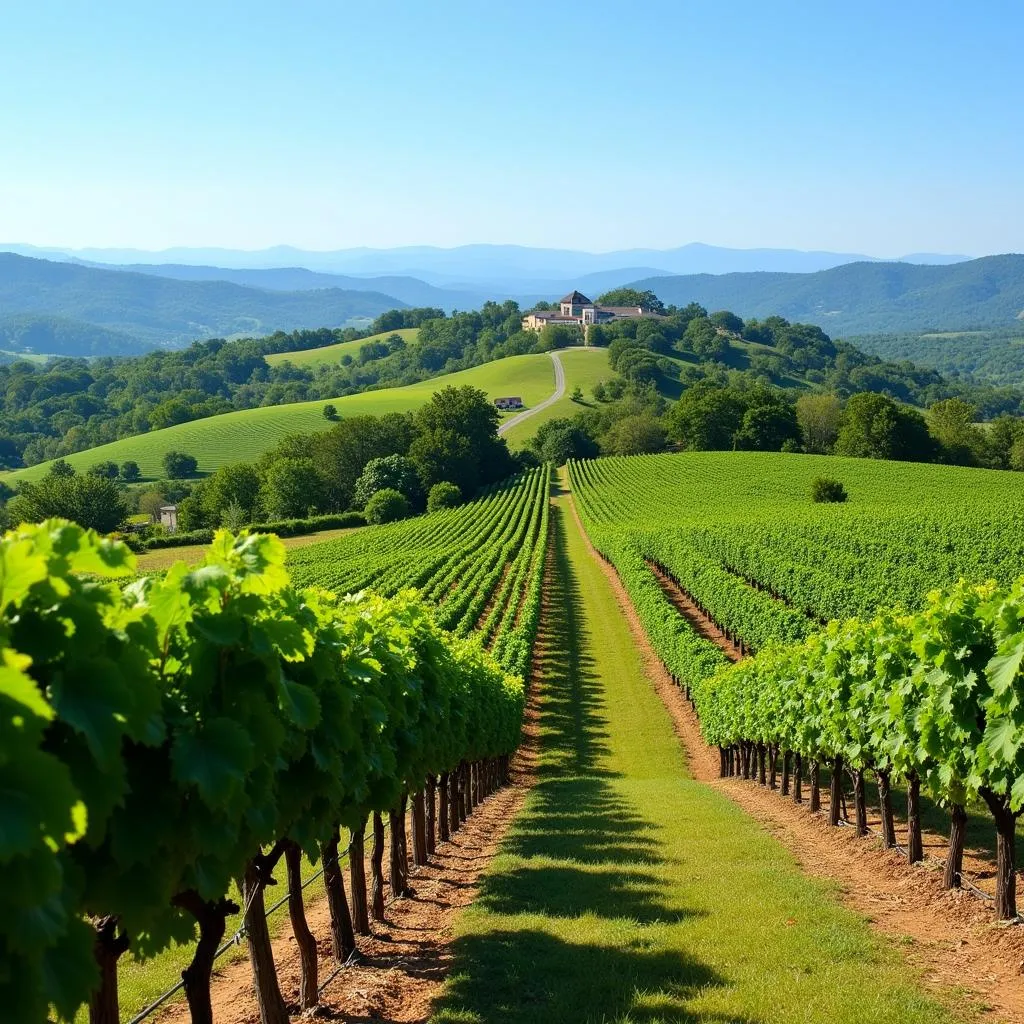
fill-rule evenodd
<path id="1" fill-rule="evenodd" d="M 688 777 L 567 501 L 555 500 L 537 783 L 457 924 L 432 1020 L 962 1019 L 755 821 Z"/>

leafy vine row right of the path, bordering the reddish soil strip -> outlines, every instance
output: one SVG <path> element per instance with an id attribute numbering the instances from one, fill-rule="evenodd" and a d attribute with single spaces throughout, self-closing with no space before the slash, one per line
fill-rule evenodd
<path id="1" fill-rule="evenodd" d="M 995 910 L 1016 916 L 1016 821 L 1024 808 L 1024 578 L 1009 586 L 953 584 L 911 613 L 882 610 L 812 632 L 808 621 L 685 547 L 671 530 L 635 535 L 595 521 L 606 501 L 571 464 L 573 490 L 595 547 L 615 567 L 673 678 L 693 700 L 723 774 L 765 781 L 779 756 L 797 778 L 809 767 L 812 810 L 822 767 L 838 824 L 842 778 L 853 781 L 855 827 L 866 834 L 865 773 L 878 781 L 883 839 L 895 845 L 891 792 L 907 791 L 908 858 L 923 856 L 925 787 L 951 818 L 946 884 L 959 884 L 967 806 L 983 802 L 996 828 Z M 614 486 L 614 484 L 610 484 Z M 731 665 L 698 636 L 658 584 L 657 554 L 719 626 L 756 638 L 754 657 Z M 787 783 L 787 777 L 785 778 Z"/>

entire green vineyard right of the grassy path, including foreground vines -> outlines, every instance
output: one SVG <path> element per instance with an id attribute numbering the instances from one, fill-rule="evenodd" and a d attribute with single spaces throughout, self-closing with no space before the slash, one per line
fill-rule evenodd
<path id="1" fill-rule="evenodd" d="M 848 774 L 864 835 L 870 773 L 889 847 L 898 782 L 911 862 L 924 786 L 951 821 L 948 887 L 962 881 L 966 808 L 981 801 L 997 835 L 995 911 L 1016 916 L 1024 492 L 984 471 L 773 461 L 776 472 L 753 475 L 738 455 L 602 460 L 570 476 L 723 775 L 775 787 L 781 760 L 782 792 L 802 801 L 806 768 L 817 811 L 826 772 L 838 824 Z M 823 465 L 852 484 L 849 506 L 810 504 Z M 680 613 L 680 595 L 695 613 Z M 701 635 L 701 622 L 728 643 Z"/>

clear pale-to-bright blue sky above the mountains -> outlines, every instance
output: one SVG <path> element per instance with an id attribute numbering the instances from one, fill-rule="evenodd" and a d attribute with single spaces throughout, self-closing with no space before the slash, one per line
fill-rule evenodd
<path id="1" fill-rule="evenodd" d="M 36 0 L 0 242 L 1024 250 L 1019 0 Z"/>

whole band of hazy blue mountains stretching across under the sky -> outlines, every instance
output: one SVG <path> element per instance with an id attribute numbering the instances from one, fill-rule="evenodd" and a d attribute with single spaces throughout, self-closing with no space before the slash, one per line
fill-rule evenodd
<path id="1" fill-rule="evenodd" d="M 515 246 L 318 254 L 281 247 L 248 254 L 227 250 L 169 253 L 251 260 L 278 254 L 288 260 L 287 265 L 86 262 L 86 255 L 98 252 L 111 258 L 129 254 L 47 251 L 50 258 L 41 259 L 0 251 L 0 350 L 131 354 L 161 346 L 179 347 L 200 338 L 365 324 L 401 306 L 435 306 L 451 311 L 477 308 L 487 299 L 513 298 L 528 307 L 538 299 L 557 299 L 573 288 L 596 298 L 607 289 L 627 284 L 650 289 L 665 302 L 677 305 L 697 301 L 709 309 L 732 309 L 744 317 L 778 313 L 819 324 L 839 336 L 1015 325 L 1024 330 L 1024 256 L 1015 255 L 967 260 L 925 254 L 915 258 L 930 263 L 861 259 L 814 269 L 815 263 L 846 257 L 695 245 L 602 255 Z M 356 253 L 364 254 L 362 262 L 355 260 Z M 168 255 L 130 254 L 136 258 Z M 399 272 L 399 265 L 411 259 L 411 254 L 423 259 L 424 254 L 432 254 L 431 275 L 444 278 L 438 269 L 443 266 L 452 280 L 438 284 Z M 528 262 L 530 254 L 537 254 L 536 265 Z M 342 274 L 300 265 L 296 255 L 326 262 L 344 257 L 360 267 L 373 264 L 381 270 L 391 262 L 394 272 Z M 470 265 L 474 255 L 479 258 L 475 269 Z M 624 262 L 617 267 L 594 268 L 595 262 L 612 258 Z M 680 266 L 694 260 L 703 260 L 705 266 L 746 261 L 759 269 L 666 272 L 666 262 Z M 573 261 L 581 272 L 568 275 L 566 267 Z M 772 263 L 797 264 L 803 269 L 769 269 Z M 475 276 L 470 276 L 471 269 Z M 492 274 L 495 281 L 488 284 L 485 279 Z"/>

